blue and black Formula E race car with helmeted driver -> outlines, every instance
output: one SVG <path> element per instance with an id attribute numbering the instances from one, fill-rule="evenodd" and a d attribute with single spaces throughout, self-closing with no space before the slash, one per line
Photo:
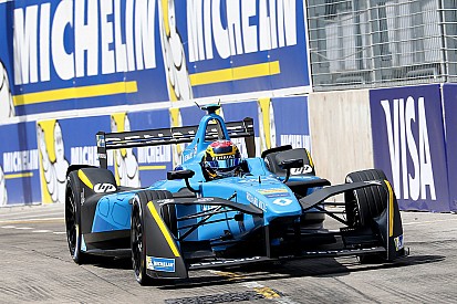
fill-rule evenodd
<path id="1" fill-rule="evenodd" d="M 406 254 L 396 198 L 381 170 L 352 172 L 345 184 L 330 186 L 315 176 L 307 149 L 281 146 L 256 157 L 252 118 L 225 123 L 216 114 L 219 105 L 201 108 L 207 114 L 198 126 L 100 132 L 101 166 L 70 166 L 65 223 L 74 262 L 132 256 L 137 282 L 149 284 L 199 269 L 312 256 L 393 261 Z M 249 157 L 239 157 L 233 138 L 245 138 Z M 107 169 L 107 150 L 184 143 L 181 165 L 148 188 L 118 186 Z M 333 208 L 340 213 L 325 207 L 339 193 L 344 202 L 331 205 L 341 205 Z M 323 229 L 322 214 L 342 227 Z"/>

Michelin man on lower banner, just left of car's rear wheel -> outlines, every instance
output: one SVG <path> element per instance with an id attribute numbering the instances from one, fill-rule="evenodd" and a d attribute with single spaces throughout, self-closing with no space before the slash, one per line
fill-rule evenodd
<path id="1" fill-rule="evenodd" d="M 41 155 L 43 202 L 65 201 L 65 175 L 69 161 L 64 155 L 62 128 L 58 120 L 40 122 L 38 143 Z M 43 182 L 44 181 L 44 182 Z M 51 201 L 49 201 L 49 197 Z"/>

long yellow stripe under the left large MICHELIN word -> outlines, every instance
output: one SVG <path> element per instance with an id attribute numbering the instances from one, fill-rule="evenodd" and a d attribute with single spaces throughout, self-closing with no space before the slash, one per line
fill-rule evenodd
<path id="1" fill-rule="evenodd" d="M 96 84 L 79 87 L 50 90 L 13 96 L 15 106 L 48 103 L 64 99 L 87 98 L 115 94 L 135 93 L 138 87 L 135 81 Z"/>

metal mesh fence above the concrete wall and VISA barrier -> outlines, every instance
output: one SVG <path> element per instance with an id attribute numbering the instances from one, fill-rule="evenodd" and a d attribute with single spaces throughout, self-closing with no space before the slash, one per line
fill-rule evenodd
<path id="1" fill-rule="evenodd" d="M 457 81 L 457 0 L 308 0 L 315 91 Z"/>

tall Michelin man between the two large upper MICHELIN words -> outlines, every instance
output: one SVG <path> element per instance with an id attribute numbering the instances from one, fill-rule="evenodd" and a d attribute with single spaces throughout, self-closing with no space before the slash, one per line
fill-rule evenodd
<path id="1" fill-rule="evenodd" d="M 170 101 L 189 101 L 193 98 L 193 88 L 183 40 L 176 28 L 175 0 L 159 2 L 162 52 L 168 81 L 168 96 Z"/>

